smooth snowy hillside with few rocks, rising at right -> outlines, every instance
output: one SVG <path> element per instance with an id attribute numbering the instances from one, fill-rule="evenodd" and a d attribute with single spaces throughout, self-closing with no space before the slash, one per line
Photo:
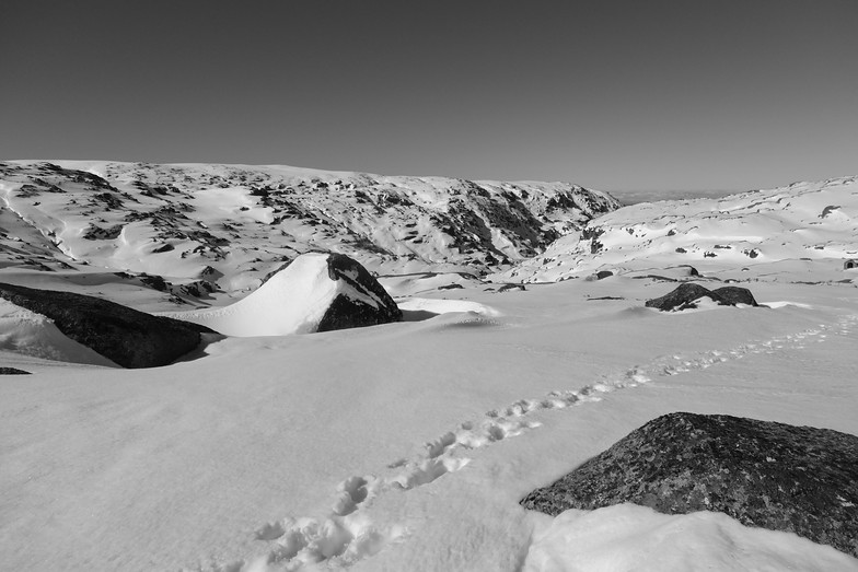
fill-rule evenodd
<path id="1" fill-rule="evenodd" d="M 492 276 L 556 281 L 599 270 L 669 266 L 737 270 L 780 260 L 858 257 L 858 177 L 624 207 L 558 238 L 537 257 Z"/>

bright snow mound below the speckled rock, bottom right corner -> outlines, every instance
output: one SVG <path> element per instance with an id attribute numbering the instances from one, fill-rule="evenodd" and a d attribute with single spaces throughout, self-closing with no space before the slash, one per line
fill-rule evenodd
<path id="1" fill-rule="evenodd" d="M 544 523 L 544 524 L 542 524 Z M 789 533 L 715 512 L 661 514 L 635 504 L 541 518 L 524 572 L 566 570 L 858 570 L 855 559 Z"/>

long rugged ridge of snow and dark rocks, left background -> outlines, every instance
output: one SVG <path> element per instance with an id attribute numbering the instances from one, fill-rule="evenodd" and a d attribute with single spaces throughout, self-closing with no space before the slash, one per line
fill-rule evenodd
<path id="1" fill-rule="evenodd" d="M 0 163 L 0 199 L 7 264 L 146 272 L 178 297 L 207 269 L 232 292 L 310 250 L 383 273 L 509 268 L 619 206 L 566 183 L 80 161 Z"/>

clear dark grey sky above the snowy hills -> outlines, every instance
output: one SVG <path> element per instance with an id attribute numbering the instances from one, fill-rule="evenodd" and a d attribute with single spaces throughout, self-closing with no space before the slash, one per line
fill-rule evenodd
<path id="1" fill-rule="evenodd" d="M 0 8 L 0 157 L 750 189 L 858 173 L 858 1 Z"/>

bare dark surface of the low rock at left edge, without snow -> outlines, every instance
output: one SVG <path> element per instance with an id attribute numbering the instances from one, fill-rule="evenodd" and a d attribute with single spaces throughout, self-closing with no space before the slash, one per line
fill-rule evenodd
<path id="1" fill-rule="evenodd" d="M 59 330 L 123 367 L 166 365 L 209 328 L 152 316 L 93 296 L 0 283 L 0 297 L 54 320 Z"/>

